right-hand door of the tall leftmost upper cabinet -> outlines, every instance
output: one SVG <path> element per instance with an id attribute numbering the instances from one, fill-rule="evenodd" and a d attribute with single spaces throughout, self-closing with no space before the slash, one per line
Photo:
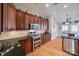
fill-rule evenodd
<path id="1" fill-rule="evenodd" d="M 8 30 L 16 30 L 16 9 L 12 5 L 8 5 L 8 14 L 7 14 L 7 19 L 8 19 Z"/>

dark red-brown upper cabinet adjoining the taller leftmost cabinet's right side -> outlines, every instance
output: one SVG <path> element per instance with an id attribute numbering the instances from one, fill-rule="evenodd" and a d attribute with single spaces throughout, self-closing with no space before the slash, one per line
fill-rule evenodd
<path id="1" fill-rule="evenodd" d="M 17 30 L 25 29 L 24 12 L 22 12 L 21 10 L 16 10 L 16 29 Z"/>

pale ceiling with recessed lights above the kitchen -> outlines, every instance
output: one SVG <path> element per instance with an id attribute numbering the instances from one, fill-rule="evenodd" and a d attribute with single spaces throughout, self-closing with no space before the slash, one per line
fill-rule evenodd
<path id="1" fill-rule="evenodd" d="M 57 22 L 66 21 L 66 14 L 72 18 L 72 21 L 79 20 L 79 4 L 78 3 L 15 3 L 17 9 L 43 16 L 46 18 L 54 17 Z M 64 8 L 67 5 L 67 8 Z"/>

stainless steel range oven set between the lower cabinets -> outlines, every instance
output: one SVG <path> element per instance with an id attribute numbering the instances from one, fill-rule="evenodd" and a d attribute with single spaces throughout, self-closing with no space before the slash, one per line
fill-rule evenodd
<path id="1" fill-rule="evenodd" d="M 40 47 L 41 35 L 37 34 L 35 31 L 29 32 L 29 36 L 33 39 L 33 51 Z"/>

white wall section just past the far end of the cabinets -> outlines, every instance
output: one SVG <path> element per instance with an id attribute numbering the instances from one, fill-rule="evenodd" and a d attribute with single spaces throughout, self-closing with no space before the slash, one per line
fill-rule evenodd
<path id="1" fill-rule="evenodd" d="M 53 16 L 49 17 L 49 32 L 51 33 L 52 40 L 58 36 L 58 24 Z"/>

